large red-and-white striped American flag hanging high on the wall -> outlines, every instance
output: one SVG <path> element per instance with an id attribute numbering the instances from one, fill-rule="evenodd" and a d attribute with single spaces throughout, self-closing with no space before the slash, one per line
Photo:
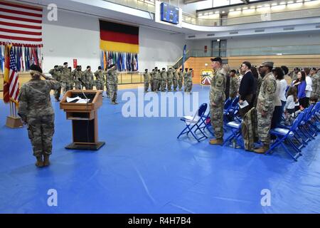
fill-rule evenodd
<path id="1" fill-rule="evenodd" d="M 42 44 L 42 9 L 0 1 L 0 41 Z"/>

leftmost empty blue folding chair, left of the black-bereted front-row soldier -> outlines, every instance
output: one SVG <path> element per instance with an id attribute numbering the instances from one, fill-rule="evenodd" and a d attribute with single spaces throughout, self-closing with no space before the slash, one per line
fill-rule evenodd
<path id="1" fill-rule="evenodd" d="M 195 115 L 193 116 L 183 116 L 183 118 L 181 118 L 180 120 L 183 121 L 183 123 L 186 124 L 186 128 L 184 128 L 181 133 L 178 135 L 177 138 L 180 138 L 181 135 L 188 135 L 189 133 L 191 133 L 193 135 L 193 137 L 200 142 L 201 139 L 203 138 L 208 138 L 205 133 L 203 133 L 203 131 L 199 128 L 199 125 L 202 123 L 203 121 L 203 113 L 206 113 L 208 105 L 206 103 L 203 103 L 202 105 L 200 105 L 200 107 L 198 108 L 198 110 L 196 111 Z M 195 129 L 195 132 L 193 133 L 193 128 Z M 196 136 L 196 131 L 199 130 L 201 132 L 201 134 L 203 136 L 201 136 L 201 138 L 198 138 Z"/>

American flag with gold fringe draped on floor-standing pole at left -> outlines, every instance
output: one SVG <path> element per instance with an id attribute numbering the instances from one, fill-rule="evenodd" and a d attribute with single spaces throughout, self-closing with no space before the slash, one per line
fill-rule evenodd
<path id="1" fill-rule="evenodd" d="M 19 83 L 16 59 L 11 45 L 6 45 L 4 68 L 4 103 L 12 100 L 18 104 Z"/>

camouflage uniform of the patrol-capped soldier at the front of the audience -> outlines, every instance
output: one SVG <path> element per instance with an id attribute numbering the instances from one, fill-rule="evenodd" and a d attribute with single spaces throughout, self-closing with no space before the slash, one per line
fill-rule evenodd
<path id="1" fill-rule="evenodd" d="M 260 93 L 257 98 L 257 133 L 264 145 L 270 145 L 270 126 L 274 111 L 274 95 L 277 82 L 272 72 L 262 78 Z M 262 111 L 266 113 L 262 116 Z"/>

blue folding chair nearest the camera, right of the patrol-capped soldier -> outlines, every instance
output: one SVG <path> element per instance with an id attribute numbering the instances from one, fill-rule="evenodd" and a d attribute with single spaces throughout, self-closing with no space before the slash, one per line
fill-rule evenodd
<path id="1" fill-rule="evenodd" d="M 290 129 L 287 128 L 273 128 L 270 130 L 270 135 L 274 135 L 276 137 L 276 140 L 272 145 L 270 146 L 270 149 L 265 152 L 265 154 L 272 153 L 276 147 L 281 145 L 287 154 L 290 155 L 295 161 L 297 161 L 297 158 L 301 156 L 301 150 L 297 148 L 296 145 L 292 142 L 292 138 L 294 137 L 294 132 L 297 130 L 299 124 L 302 122 L 302 119 L 304 118 L 304 115 L 298 115 L 298 117 L 294 120 L 294 123 L 292 123 L 292 126 Z M 289 142 L 289 145 L 292 146 L 296 154 L 294 155 L 290 150 L 288 150 L 287 146 L 284 144 L 284 142 Z"/>

